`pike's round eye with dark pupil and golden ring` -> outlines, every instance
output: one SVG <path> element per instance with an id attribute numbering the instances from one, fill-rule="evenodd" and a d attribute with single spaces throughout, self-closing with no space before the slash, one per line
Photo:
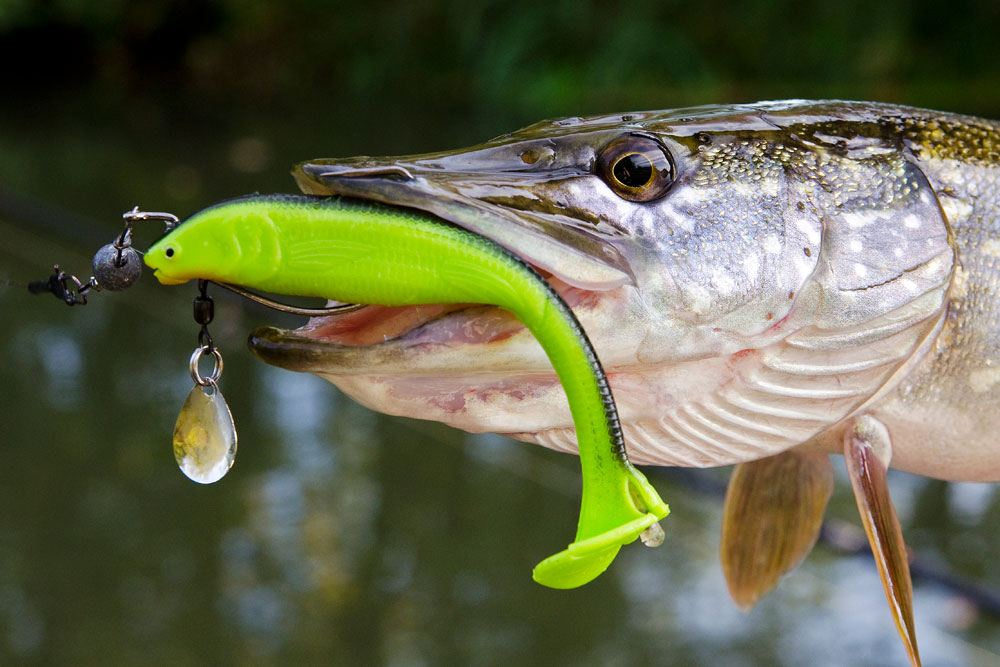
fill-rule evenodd
<path id="1" fill-rule="evenodd" d="M 615 139 L 597 156 L 595 172 L 622 199 L 659 199 L 674 181 L 674 165 L 663 144 L 629 134 Z"/>

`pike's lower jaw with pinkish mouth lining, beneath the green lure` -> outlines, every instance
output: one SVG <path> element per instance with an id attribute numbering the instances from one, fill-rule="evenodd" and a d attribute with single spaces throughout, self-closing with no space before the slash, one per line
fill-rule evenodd
<path id="1" fill-rule="evenodd" d="M 606 301 L 600 292 L 547 280 L 584 326 Z M 573 425 L 541 346 L 514 315 L 495 306 L 369 305 L 313 317 L 295 330 L 259 327 L 249 345 L 260 360 L 314 373 L 386 414 L 527 441 Z"/>

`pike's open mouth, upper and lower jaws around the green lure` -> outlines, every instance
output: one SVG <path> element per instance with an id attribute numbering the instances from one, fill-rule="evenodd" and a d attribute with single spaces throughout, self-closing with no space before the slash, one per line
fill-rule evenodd
<path id="1" fill-rule="evenodd" d="M 517 188 L 527 193 L 530 178 L 456 174 L 426 162 L 352 158 L 304 163 L 293 173 L 307 194 L 418 209 L 506 247 L 539 271 L 584 327 L 602 317 L 595 309 L 609 307 L 629 289 L 628 263 L 607 242 L 606 230 L 565 225 L 555 215 L 512 210 L 470 194 L 501 187 L 496 183 L 507 195 Z M 561 174 L 581 176 L 589 172 Z M 324 377 L 380 412 L 523 439 L 554 424 L 572 426 L 541 346 L 514 315 L 495 306 L 368 305 L 314 317 L 295 330 L 260 327 L 249 346 L 262 361 Z"/>

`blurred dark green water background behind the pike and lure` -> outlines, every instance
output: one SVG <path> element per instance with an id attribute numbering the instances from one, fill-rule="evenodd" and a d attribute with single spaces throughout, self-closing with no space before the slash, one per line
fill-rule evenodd
<path id="1" fill-rule="evenodd" d="M 551 591 L 578 467 L 374 414 L 245 347 L 295 318 L 216 294 L 235 468 L 202 487 L 170 433 L 193 288 L 150 276 L 86 308 L 31 296 L 134 204 L 181 216 L 290 192 L 292 163 L 477 143 L 560 115 L 783 97 L 1000 117 L 994 2 L 0 0 L 0 663 L 902 665 L 867 556 L 819 546 L 749 614 L 721 501 L 649 470 L 659 549 Z M 152 240 L 140 233 L 138 244 Z M 830 516 L 857 525 L 837 461 Z M 898 474 L 910 547 L 1000 590 L 993 486 Z M 1000 664 L 997 616 L 916 582 L 925 665 Z"/>

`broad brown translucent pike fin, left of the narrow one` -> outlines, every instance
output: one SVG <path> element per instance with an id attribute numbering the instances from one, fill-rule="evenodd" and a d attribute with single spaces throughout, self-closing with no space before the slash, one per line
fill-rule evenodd
<path id="1" fill-rule="evenodd" d="M 726 491 L 721 555 L 739 607 L 753 607 L 806 557 L 832 492 L 826 454 L 790 450 L 736 466 Z"/>

